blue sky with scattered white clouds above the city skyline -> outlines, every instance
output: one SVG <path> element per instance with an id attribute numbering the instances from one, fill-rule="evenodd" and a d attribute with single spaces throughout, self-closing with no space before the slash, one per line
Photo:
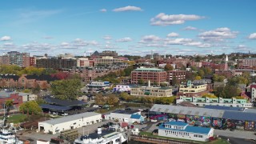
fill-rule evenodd
<path id="1" fill-rule="evenodd" d="M 256 53 L 254 0 L 0 2 L 0 52 Z"/>

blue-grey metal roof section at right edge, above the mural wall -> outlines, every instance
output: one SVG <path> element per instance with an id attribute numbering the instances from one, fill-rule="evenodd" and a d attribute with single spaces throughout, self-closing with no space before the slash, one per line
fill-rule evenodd
<path id="1" fill-rule="evenodd" d="M 242 111 L 226 110 L 225 113 L 223 114 L 222 118 L 255 122 L 256 121 L 256 114 L 255 113 L 246 113 L 246 112 L 242 112 Z"/>

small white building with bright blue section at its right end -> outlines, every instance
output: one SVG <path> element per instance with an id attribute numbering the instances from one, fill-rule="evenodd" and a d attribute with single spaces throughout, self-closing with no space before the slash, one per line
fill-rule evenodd
<path id="1" fill-rule="evenodd" d="M 134 115 L 141 115 L 141 111 L 139 110 L 116 110 L 114 112 L 111 112 L 110 114 L 105 115 L 105 119 L 107 120 L 113 120 L 118 122 L 142 122 L 144 121 L 144 118 L 134 118 Z"/>

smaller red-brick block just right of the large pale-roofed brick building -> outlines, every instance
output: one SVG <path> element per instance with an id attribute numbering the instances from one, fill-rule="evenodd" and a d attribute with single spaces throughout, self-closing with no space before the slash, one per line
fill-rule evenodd
<path id="1" fill-rule="evenodd" d="M 167 82 L 170 82 L 170 84 L 179 84 L 185 80 L 186 80 L 186 70 L 167 71 Z"/>

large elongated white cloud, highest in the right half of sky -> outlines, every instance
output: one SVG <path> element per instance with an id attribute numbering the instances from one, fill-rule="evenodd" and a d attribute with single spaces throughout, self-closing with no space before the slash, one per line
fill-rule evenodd
<path id="1" fill-rule="evenodd" d="M 168 26 L 168 25 L 178 25 L 178 24 L 182 24 L 186 21 L 195 21 L 195 20 L 199 20 L 202 18 L 204 18 L 204 17 L 198 16 L 195 14 L 168 15 L 168 14 L 160 13 L 157 16 L 155 16 L 154 18 L 151 18 L 150 22 L 151 22 L 151 25 L 154 25 L 154 26 Z"/>

